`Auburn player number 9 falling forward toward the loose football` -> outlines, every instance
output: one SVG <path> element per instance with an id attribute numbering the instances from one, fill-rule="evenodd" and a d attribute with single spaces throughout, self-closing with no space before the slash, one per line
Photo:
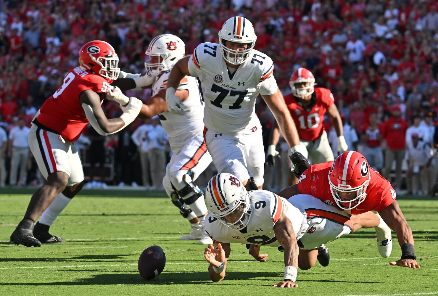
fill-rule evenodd
<path id="1" fill-rule="evenodd" d="M 378 219 L 372 212 L 350 219 L 343 211 L 307 194 L 286 200 L 267 190 L 247 191 L 236 176 L 228 173 L 213 176 L 205 196 L 210 211 L 205 230 L 214 245 L 205 249 L 204 257 L 210 263 L 208 272 L 214 282 L 225 277 L 230 243 L 243 243 L 251 244 L 250 254 L 261 262 L 268 255 L 259 254 L 260 246 L 284 250 L 284 280 L 274 286 L 296 287 L 297 268 L 311 268 L 322 243 Z"/>

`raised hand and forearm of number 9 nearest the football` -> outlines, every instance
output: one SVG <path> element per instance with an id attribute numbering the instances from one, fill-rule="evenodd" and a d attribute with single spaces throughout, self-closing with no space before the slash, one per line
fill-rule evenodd
<path id="1" fill-rule="evenodd" d="M 225 268 L 230 257 L 230 243 L 215 243 L 208 245 L 204 251 L 205 260 L 210 263 L 208 274 L 213 282 L 220 282 L 225 278 Z"/>

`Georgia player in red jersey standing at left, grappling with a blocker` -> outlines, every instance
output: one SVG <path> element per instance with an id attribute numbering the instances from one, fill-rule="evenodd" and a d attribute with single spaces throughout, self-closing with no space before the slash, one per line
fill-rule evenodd
<path id="1" fill-rule="evenodd" d="M 79 50 L 80 66 L 65 75 L 63 85 L 46 99 L 35 115 L 29 132 L 29 148 L 47 181 L 32 195 L 24 219 L 11 235 L 11 242 L 27 247 L 64 242 L 49 234 L 49 227 L 84 184 L 74 141 L 88 123 L 101 135 L 116 133 L 131 123 L 143 106 L 137 98 L 128 99 L 120 94 L 110 97 L 113 92 L 109 84 L 120 73 L 118 63 L 117 53 L 109 43 L 100 40 L 86 43 Z M 124 106 L 120 105 L 123 114 L 119 118 L 106 118 L 101 107 L 106 95 L 123 103 Z"/>

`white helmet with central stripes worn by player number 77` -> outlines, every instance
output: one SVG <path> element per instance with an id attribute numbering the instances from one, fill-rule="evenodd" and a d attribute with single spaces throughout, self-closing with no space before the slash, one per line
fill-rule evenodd
<path id="1" fill-rule="evenodd" d="M 223 58 L 233 65 L 243 63 L 250 56 L 257 36 L 251 21 L 244 17 L 229 18 L 219 31 L 219 49 Z M 248 44 L 245 50 L 233 50 L 225 46 L 225 41 Z"/>

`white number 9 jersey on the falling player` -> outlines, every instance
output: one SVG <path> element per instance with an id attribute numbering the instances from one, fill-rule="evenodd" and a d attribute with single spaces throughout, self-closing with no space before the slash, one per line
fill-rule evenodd
<path id="1" fill-rule="evenodd" d="M 286 215 L 291 220 L 297 240 L 307 231 L 307 215 L 285 198 L 267 190 L 253 190 L 249 193 L 251 216 L 243 230 L 231 229 L 208 213 L 205 218 L 205 231 L 213 241 L 280 247 L 274 234 L 274 226 L 281 215 Z"/>

